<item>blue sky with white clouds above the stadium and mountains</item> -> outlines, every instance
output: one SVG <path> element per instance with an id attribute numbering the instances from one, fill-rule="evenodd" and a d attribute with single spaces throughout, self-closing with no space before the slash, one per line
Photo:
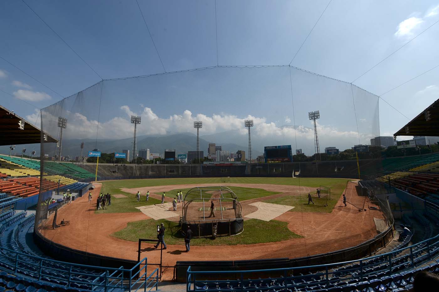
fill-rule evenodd
<path id="1" fill-rule="evenodd" d="M 131 114 L 149 135 L 193 132 L 194 119 L 206 134 L 245 135 L 243 121 L 253 118 L 255 139 L 294 147 L 298 137 L 297 147 L 311 151 L 307 112 L 320 110 L 320 147 L 343 148 L 409 121 L 377 96 L 410 119 L 439 98 L 439 68 L 388 92 L 439 65 L 437 0 L 139 1 L 144 18 L 131 0 L 25 2 L 65 43 L 25 3 L 2 1 L 1 105 L 39 123 L 38 108 L 73 95 L 62 111 L 47 110 L 68 117 L 72 137 L 96 137 L 99 119 L 99 138 L 126 138 Z M 101 79 L 290 62 L 348 83 L 291 68 L 290 87 L 288 67 L 214 68 L 105 81 L 75 95 Z"/>

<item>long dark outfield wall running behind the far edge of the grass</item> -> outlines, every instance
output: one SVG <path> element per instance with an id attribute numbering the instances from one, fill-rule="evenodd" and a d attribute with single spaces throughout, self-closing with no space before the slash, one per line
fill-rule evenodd
<path id="1" fill-rule="evenodd" d="M 79 164 L 92 173 L 96 164 Z M 382 170 L 381 159 L 360 160 L 362 179 Z M 116 172 L 117 171 L 117 172 Z M 187 177 L 298 177 L 358 178 L 356 160 L 235 164 L 100 164 L 97 175 L 102 179 L 129 178 L 187 178 Z"/>

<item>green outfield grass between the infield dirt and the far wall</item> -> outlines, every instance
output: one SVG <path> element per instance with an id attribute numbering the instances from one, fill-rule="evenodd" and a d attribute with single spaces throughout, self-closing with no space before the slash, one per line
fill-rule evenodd
<path id="1" fill-rule="evenodd" d="M 287 206 L 294 206 L 292 212 L 327 212 L 330 213 L 335 203 L 342 195 L 345 189 L 348 179 L 343 178 L 230 178 L 230 183 L 241 184 L 273 184 L 273 185 L 301 185 L 312 188 L 318 188 L 320 185 L 324 185 L 331 188 L 331 200 L 328 201 L 328 207 L 321 207 L 319 205 L 308 206 L 308 194 L 302 196 L 285 196 L 282 198 L 267 200 L 267 203 L 277 203 Z M 137 187 L 159 186 L 159 185 L 185 185 L 185 184 L 207 184 L 217 183 L 218 185 L 224 185 L 227 183 L 221 183 L 221 178 L 155 178 L 155 179 L 129 179 L 129 180 L 115 180 L 102 182 L 101 192 L 110 194 L 123 194 L 126 198 L 114 198 L 112 197 L 112 205 L 108 206 L 107 210 L 97 210 L 96 213 L 124 213 L 124 212 L 140 212 L 135 207 L 152 205 L 160 203 L 160 200 L 150 197 L 148 202 L 145 202 L 145 197 L 141 196 L 140 201 L 137 203 L 136 195 L 127 192 L 122 192 L 121 188 L 133 189 Z M 277 192 L 269 192 L 263 189 L 242 188 L 230 186 L 240 201 L 247 199 L 259 198 L 263 196 L 270 196 Z M 177 191 L 183 191 L 183 194 L 188 189 L 175 189 L 167 192 L 168 196 L 176 196 Z M 300 199 L 302 205 L 300 205 Z M 315 198 L 313 198 L 315 199 Z M 314 201 L 317 203 L 317 201 Z M 306 204 L 306 205 L 304 205 Z M 247 221 L 246 221 L 247 222 Z"/>

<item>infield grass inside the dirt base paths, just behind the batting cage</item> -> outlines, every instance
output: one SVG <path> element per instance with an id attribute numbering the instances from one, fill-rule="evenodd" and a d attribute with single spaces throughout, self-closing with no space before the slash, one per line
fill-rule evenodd
<path id="1" fill-rule="evenodd" d="M 265 189 L 255 189 L 255 188 L 243 188 L 243 187 L 235 187 L 235 186 L 227 186 L 227 188 L 231 189 L 235 195 L 238 197 L 239 201 L 245 201 L 248 199 L 256 199 L 260 197 L 265 196 L 271 196 L 280 194 L 280 192 L 270 192 L 266 191 Z M 169 196 L 176 196 L 177 192 L 182 191 L 183 192 L 183 198 L 186 195 L 186 192 L 189 191 L 191 188 L 188 189 L 173 189 L 172 191 L 169 191 Z M 227 196 L 228 192 L 224 192 L 225 198 L 231 198 L 231 196 Z M 203 192 L 203 198 L 210 199 L 212 197 L 212 194 L 209 193 L 209 191 Z M 192 199 L 199 199 L 200 198 L 200 192 L 193 192 L 189 196 L 187 196 L 186 201 L 190 201 Z"/>

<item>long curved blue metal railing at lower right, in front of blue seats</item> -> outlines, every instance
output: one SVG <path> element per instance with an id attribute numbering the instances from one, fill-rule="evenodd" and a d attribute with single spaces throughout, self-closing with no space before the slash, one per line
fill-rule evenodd
<path id="1" fill-rule="evenodd" d="M 392 273 L 401 271 L 404 268 L 412 269 L 425 260 L 432 260 L 438 256 L 438 254 L 439 235 L 436 235 L 430 239 L 418 242 L 415 245 L 398 249 L 390 253 L 383 253 L 361 260 L 351 260 L 334 264 L 247 271 L 192 271 L 191 267 L 188 267 L 186 274 L 186 291 L 217 291 L 217 288 L 212 288 L 212 286 L 216 285 L 218 282 L 227 283 L 227 285 L 233 287 L 234 291 L 273 290 L 273 286 L 270 285 L 267 285 L 266 287 L 261 287 L 260 285 L 258 285 L 258 287 L 252 287 L 252 283 L 254 282 L 277 283 L 280 286 L 279 288 L 287 285 L 294 285 L 295 288 L 301 288 L 309 285 L 306 279 L 310 279 L 314 281 L 316 285 L 328 285 L 335 281 L 340 281 L 340 277 L 343 277 L 343 281 L 350 281 L 379 273 L 391 275 Z M 303 270 L 315 270 L 318 272 L 306 275 L 294 275 L 294 271 Z M 282 276 L 277 278 L 248 279 L 248 277 L 258 273 L 278 273 L 282 274 Z M 237 276 L 235 278 L 238 278 L 238 280 L 197 280 L 197 278 L 200 279 L 202 276 L 209 278 L 212 275 L 218 277 L 221 274 L 235 275 Z"/>

